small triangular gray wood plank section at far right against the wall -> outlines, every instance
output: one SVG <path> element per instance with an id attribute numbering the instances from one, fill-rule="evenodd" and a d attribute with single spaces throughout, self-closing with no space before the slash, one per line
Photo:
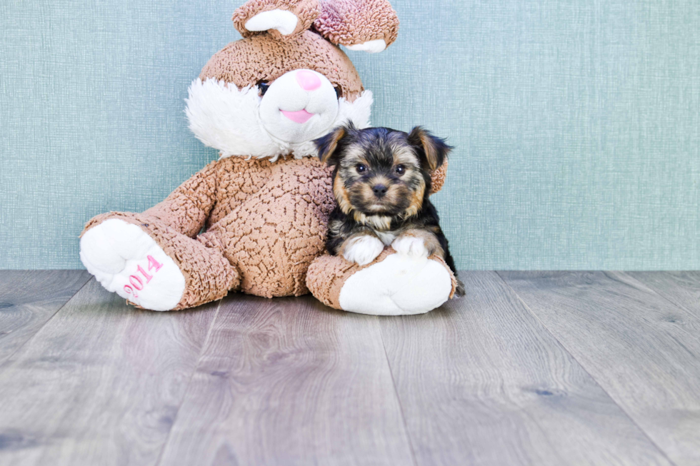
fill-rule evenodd
<path id="1" fill-rule="evenodd" d="M 675 305 L 700 317 L 700 272 L 626 272 Z"/>

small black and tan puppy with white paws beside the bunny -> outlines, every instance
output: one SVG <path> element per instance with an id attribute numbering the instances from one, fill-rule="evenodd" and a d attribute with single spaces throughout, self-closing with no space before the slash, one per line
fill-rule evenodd
<path id="1" fill-rule="evenodd" d="M 329 253 L 366 265 L 391 245 L 406 255 L 438 255 L 457 275 L 428 198 L 430 173 L 442 165 L 451 146 L 420 126 L 404 133 L 360 130 L 352 123 L 314 143 L 321 161 L 335 167 L 337 206 L 329 219 Z M 456 295 L 464 295 L 459 280 Z"/>

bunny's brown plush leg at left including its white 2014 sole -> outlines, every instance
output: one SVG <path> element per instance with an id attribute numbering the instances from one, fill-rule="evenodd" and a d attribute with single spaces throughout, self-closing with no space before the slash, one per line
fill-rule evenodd
<path id="1" fill-rule="evenodd" d="M 80 240 L 80 258 L 104 288 L 140 308 L 191 308 L 226 295 L 239 275 L 219 250 L 141 214 L 94 219 Z M 101 220 L 101 221 L 100 221 Z"/>

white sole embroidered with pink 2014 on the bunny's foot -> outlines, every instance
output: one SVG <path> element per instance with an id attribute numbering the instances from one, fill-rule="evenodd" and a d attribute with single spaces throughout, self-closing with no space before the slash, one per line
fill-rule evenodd
<path id="1" fill-rule="evenodd" d="M 145 231 L 110 218 L 80 240 L 80 260 L 109 291 L 150 310 L 171 310 L 182 298 L 185 278 Z"/>

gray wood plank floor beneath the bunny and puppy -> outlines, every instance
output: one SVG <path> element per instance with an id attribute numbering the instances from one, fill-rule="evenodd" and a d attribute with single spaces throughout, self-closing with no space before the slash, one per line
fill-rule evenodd
<path id="1" fill-rule="evenodd" d="M 700 465 L 700 273 L 465 272 L 426 315 L 0 272 L 0 465 Z"/>

